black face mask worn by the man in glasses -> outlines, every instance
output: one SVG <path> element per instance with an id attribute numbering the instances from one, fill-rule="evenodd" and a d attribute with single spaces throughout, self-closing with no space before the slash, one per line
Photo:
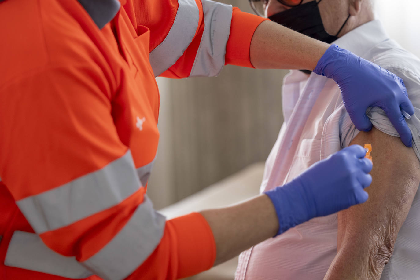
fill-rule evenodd
<path id="1" fill-rule="evenodd" d="M 322 0 L 321 0 L 322 1 Z M 319 2 L 321 2 L 319 1 Z M 319 3 L 318 2 L 318 3 Z M 347 17 L 344 24 L 341 26 L 337 34 L 330 35 L 325 31 L 324 25 L 322 24 L 321 14 L 319 13 L 318 3 L 311 1 L 297 7 L 285 10 L 280 13 L 276 13 L 273 16 L 268 18 L 271 21 L 274 21 L 278 24 L 286 26 L 287 28 L 293 29 L 299 33 L 312 37 L 314 39 L 323 41 L 325 43 L 331 44 L 336 39 L 338 39 L 338 34 L 340 34 L 341 29 L 346 25 L 347 21 L 350 18 L 350 14 Z M 302 70 L 305 73 L 311 73 L 309 70 Z"/>

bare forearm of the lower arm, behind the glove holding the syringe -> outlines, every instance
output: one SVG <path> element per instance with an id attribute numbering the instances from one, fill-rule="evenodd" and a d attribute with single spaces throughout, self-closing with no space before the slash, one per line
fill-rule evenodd
<path id="1" fill-rule="evenodd" d="M 202 211 L 216 243 L 215 264 L 276 235 L 278 220 L 273 203 L 262 194 L 230 207 Z"/>

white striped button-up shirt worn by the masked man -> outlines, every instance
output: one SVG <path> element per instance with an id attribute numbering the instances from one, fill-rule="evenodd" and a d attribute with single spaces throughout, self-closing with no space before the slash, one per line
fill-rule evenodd
<path id="1" fill-rule="evenodd" d="M 380 21 L 345 34 L 336 42 L 400 76 L 415 115 L 407 120 L 420 160 L 420 60 L 388 38 Z M 283 81 L 284 123 L 265 165 L 260 190 L 291 181 L 313 163 L 349 145 L 359 131 L 331 79 L 293 70 Z M 398 136 L 383 110 L 368 113 L 379 130 Z M 236 280 L 322 280 L 337 251 L 337 214 L 319 217 L 241 254 Z M 420 279 L 420 193 L 399 231 L 381 280 Z"/>

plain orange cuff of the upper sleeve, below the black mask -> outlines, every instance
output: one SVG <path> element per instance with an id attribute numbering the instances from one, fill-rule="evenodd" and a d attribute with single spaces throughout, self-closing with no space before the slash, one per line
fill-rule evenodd
<path id="1" fill-rule="evenodd" d="M 245 13 L 234 7 L 225 64 L 254 68 L 249 57 L 251 39 L 260 23 L 267 20 L 268 18 Z"/>

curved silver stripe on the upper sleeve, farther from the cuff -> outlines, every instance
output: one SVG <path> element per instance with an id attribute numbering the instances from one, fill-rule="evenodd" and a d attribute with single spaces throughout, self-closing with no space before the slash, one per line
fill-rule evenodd
<path id="1" fill-rule="evenodd" d="M 155 77 L 165 72 L 181 57 L 192 42 L 198 24 L 199 10 L 195 0 L 178 0 L 178 10 L 171 30 L 149 55 Z"/>

